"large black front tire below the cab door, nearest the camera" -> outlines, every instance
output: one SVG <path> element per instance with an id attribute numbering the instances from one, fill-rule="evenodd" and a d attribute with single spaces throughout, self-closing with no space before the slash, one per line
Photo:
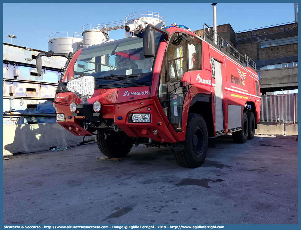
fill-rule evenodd
<path id="1" fill-rule="evenodd" d="M 188 114 L 185 141 L 177 142 L 173 146 L 175 161 L 180 166 L 197 168 L 203 164 L 208 149 L 208 131 L 200 114 Z M 176 150 L 177 148 L 180 149 Z"/>

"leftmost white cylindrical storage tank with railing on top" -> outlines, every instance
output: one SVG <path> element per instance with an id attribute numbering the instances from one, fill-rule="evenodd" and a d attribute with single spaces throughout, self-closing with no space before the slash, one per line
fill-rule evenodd
<path id="1" fill-rule="evenodd" d="M 74 53 L 81 45 L 81 33 L 57 32 L 48 36 L 48 50 L 52 50 L 55 53 Z"/>

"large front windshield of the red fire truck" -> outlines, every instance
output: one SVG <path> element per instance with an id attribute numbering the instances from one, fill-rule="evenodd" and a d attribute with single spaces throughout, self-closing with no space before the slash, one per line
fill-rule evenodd
<path id="1" fill-rule="evenodd" d="M 161 33 L 156 34 L 156 50 L 161 37 Z M 138 37 L 104 42 L 100 45 L 82 48 L 77 52 L 80 54 L 75 62 L 70 62 L 69 65 L 74 63 L 73 68 L 68 68 L 68 73 L 62 76 L 63 82 L 84 75 L 94 76 L 96 79 L 103 77 L 109 79 L 105 77 L 123 75 L 145 80 L 144 78 L 151 76 L 154 64 L 154 57 L 144 57 L 143 39 Z"/>

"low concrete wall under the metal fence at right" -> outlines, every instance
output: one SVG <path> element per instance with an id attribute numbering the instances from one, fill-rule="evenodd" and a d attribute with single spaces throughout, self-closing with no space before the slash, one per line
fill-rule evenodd
<path id="1" fill-rule="evenodd" d="M 298 135 L 298 123 L 261 122 L 255 129 L 255 134 Z"/>

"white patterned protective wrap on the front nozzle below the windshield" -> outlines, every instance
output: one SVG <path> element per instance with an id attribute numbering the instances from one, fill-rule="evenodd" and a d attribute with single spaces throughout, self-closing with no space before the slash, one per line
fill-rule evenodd
<path id="1" fill-rule="evenodd" d="M 67 83 L 67 90 L 73 92 L 80 99 L 86 100 L 94 94 L 94 82 L 93 76 L 77 77 Z"/>

